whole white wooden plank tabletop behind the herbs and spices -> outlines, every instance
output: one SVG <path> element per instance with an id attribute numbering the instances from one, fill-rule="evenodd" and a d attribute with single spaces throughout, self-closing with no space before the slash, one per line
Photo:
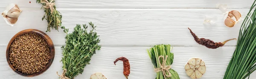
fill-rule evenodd
<path id="1" fill-rule="evenodd" d="M 47 32 L 55 45 L 55 58 L 46 72 L 28 78 L 9 68 L 6 46 L 16 33 L 29 28 L 47 30 L 46 20 L 41 20 L 44 15 L 40 9 L 42 5 L 36 0 L 2 0 L 0 12 L 9 3 L 17 3 L 23 12 L 13 27 L 0 18 L 1 79 L 58 79 L 56 71 L 62 73 L 61 46 L 65 44 L 61 29 L 60 32 Z M 131 64 L 129 79 L 154 79 L 156 74 L 146 49 L 157 44 L 174 47 L 172 69 L 178 72 L 180 79 L 189 79 L 184 65 L 191 57 L 201 58 L 207 65 L 207 72 L 201 79 L 222 79 L 237 41 L 209 49 L 196 43 L 187 29 L 189 27 L 198 37 L 215 42 L 237 38 L 241 23 L 227 28 L 221 11 L 215 6 L 217 3 L 227 4 L 228 10 L 238 10 L 244 17 L 253 0 L 56 0 L 57 10 L 63 15 L 62 25 L 70 32 L 76 24 L 92 21 L 100 35 L 101 50 L 96 51 L 91 64 L 75 79 L 89 79 L 95 72 L 102 72 L 108 79 L 125 79 L 122 62 L 113 64 L 120 56 L 128 58 Z M 215 26 L 203 25 L 205 15 L 218 18 Z M 250 79 L 256 79 L 256 73 L 252 73 Z"/>

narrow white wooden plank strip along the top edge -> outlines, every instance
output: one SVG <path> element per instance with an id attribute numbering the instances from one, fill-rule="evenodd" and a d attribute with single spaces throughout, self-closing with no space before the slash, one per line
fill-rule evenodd
<path id="1" fill-rule="evenodd" d="M 29 3 L 31 1 L 31 3 Z M 228 8 L 250 8 L 254 0 L 56 0 L 57 8 L 216 8 L 217 3 Z M 20 8 L 41 8 L 36 0 L 5 0 L 0 8 L 17 3 Z"/>

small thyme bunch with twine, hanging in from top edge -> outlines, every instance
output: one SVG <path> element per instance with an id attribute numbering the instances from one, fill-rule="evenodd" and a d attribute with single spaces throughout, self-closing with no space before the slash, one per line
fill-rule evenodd
<path id="1" fill-rule="evenodd" d="M 49 32 L 51 32 L 50 28 L 54 28 L 58 31 L 58 28 L 61 27 L 62 15 L 59 11 L 56 10 L 54 2 L 54 0 L 36 0 L 36 3 L 41 3 L 43 5 L 42 8 L 44 8 L 45 14 L 42 20 L 47 20 L 47 31 Z"/>

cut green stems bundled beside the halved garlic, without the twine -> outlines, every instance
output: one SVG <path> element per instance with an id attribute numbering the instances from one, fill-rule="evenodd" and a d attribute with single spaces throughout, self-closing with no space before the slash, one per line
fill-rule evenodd
<path id="1" fill-rule="evenodd" d="M 172 50 L 171 45 L 155 45 L 153 48 L 150 48 L 147 50 L 148 56 L 151 59 L 152 64 L 154 65 L 155 71 L 156 69 L 161 68 L 161 66 L 164 66 L 162 65 L 163 63 L 166 66 L 169 66 L 169 68 L 171 67 L 170 65 L 172 65 L 173 57 L 174 57 L 173 53 L 170 52 L 171 50 Z M 161 56 L 165 58 L 160 59 Z M 165 62 L 165 59 L 166 59 L 166 62 Z M 171 74 L 168 74 L 168 71 Z M 178 73 L 171 68 L 169 70 L 164 71 L 164 73 L 163 71 L 156 71 L 156 72 L 157 72 L 156 79 L 165 79 L 164 73 L 166 73 L 167 75 L 170 75 L 170 77 L 166 77 L 166 79 L 180 79 Z"/>

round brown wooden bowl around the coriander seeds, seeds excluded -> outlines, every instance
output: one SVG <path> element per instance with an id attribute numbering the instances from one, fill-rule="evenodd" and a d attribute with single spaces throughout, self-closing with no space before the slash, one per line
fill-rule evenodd
<path id="1" fill-rule="evenodd" d="M 33 74 L 25 74 L 25 73 L 21 73 L 19 71 L 17 71 L 13 66 L 12 66 L 12 63 L 10 62 L 10 59 L 9 59 L 9 49 L 10 49 L 10 46 L 12 44 L 12 42 L 17 38 L 19 37 L 20 35 L 22 34 L 26 34 L 26 33 L 35 33 L 35 34 L 38 34 L 40 35 L 41 37 L 44 38 L 44 40 L 46 40 L 47 44 L 49 45 L 49 50 L 50 50 L 50 59 L 48 61 L 48 64 L 44 67 L 43 70 L 39 71 L 38 73 L 33 73 Z M 54 45 L 52 43 L 52 40 L 51 38 L 45 34 L 44 32 L 42 31 L 39 31 L 39 30 L 36 30 L 36 29 L 26 29 L 26 30 L 23 30 L 23 31 L 20 31 L 18 32 L 17 34 L 15 34 L 12 39 L 10 40 L 7 48 L 6 48 L 6 60 L 9 64 L 9 66 L 12 68 L 13 71 L 15 71 L 15 73 L 18 73 L 20 74 L 21 76 L 26 76 L 26 77 L 32 77 L 32 76 L 38 76 L 42 73 L 44 73 L 51 65 L 52 65 L 52 62 L 53 62 L 53 59 L 54 59 L 54 55 L 55 55 L 55 48 L 54 48 Z"/>

